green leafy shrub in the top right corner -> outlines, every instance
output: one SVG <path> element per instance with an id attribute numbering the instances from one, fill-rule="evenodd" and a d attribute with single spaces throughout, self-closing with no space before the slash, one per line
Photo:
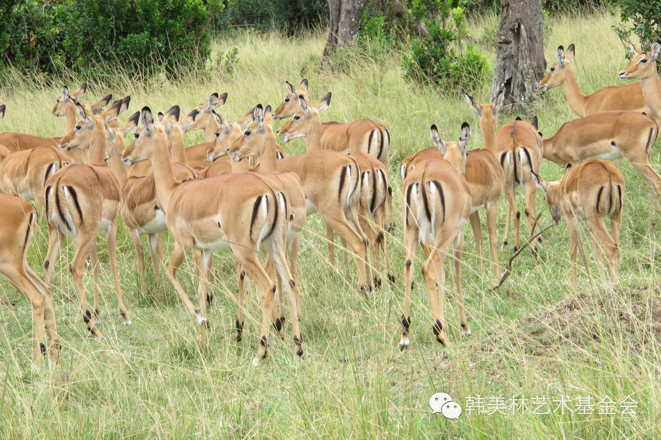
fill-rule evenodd
<path id="1" fill-rule="evenodd" d="M 652 43 L 661 39 L 661 2 L 658 0 L 611 0 L 620 8 L 622 24 L 613 26 L 625 44 L 631 34 L 639 38 L 642 50 L 649 50 Z M 631 27 L 627 25 L 631 21 Z M 628 47 L 628 46 L 627 46 Z M 627 52 L 627 56 L 631 56 Z"/>

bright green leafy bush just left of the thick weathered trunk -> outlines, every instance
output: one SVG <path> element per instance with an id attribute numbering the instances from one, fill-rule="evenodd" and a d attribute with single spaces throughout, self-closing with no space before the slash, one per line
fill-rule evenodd
<path id="1" fill-rule="evenodd" d="M 438 9 L 436 19 L 425 21 L 429 38 L 412 40 L 410 53 L 403 57 L 407 76 L 415 81 L 463 88 L 482 81 L 486 58 L 472 43 L 465 44 L 464 9 L 452 8 L 452 0 L 437 0 L 432 6 Z M 429 9 L 428 5 L 423 7 Z"/>

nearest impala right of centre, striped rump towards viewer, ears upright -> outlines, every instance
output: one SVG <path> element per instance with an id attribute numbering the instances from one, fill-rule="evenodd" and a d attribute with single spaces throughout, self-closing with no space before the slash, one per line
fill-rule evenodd
<path id="1" fill-rule="evenodd" d="M 471 214 L 471 190 L 463 178 L 463 172 L 471 128 L 467 123 L 463 123 L 459 142 L 446 142 L 441 139 L 436 126 L 432 126 L 431 134 L 445 159 L 430 159 L 418 163 L 408 172 L 402 186 L 404 245 L 407 251 L 404 270 L 404 314 L 401 320 L 404 331 L 399 342 L 399 348 L 402 350 L 407 349 L 410 344 L 408 339 L 411 324 L 410 293 L 418 240 L 428 255 L 422 265 L 422 276 L 429 295 L 434 320 L 432 329 L 436 340 L 444 346 L 449 344 L 444 313 L 446 272 L 443 262 L 450 248 L 453 248 L 455 257 L 452 278 L 459 297 L 459 324 L 462 334 L 466 336 L 471 334 L 461 293 L 463 227 Z M 438 285 L 438 293 L 436 285 Z"/>

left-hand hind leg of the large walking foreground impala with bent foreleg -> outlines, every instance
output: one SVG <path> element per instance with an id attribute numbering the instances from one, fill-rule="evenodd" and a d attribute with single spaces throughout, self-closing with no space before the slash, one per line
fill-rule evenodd
<path id="1" fill-rule="evenodd" d="M 256 367 L 259 365 L 260 361 L 266 357 L 268 351 L 268 328 L 271 323 L 273 302 L 276 296 L 276 285 L 268 277 L 264 267 L 257 259 L 257 254 L 254 250 L 241 246 L 240 244 L 232 244 L 231 247 L 234 256 L 248 275 L 254 279 L 262 293 L 262 326 L 259 332 L 259 348 L 253 358 L 253 365 Z"/>

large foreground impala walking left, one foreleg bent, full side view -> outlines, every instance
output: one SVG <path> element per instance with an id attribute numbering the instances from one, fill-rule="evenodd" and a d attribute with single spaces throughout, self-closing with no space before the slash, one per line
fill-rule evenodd
<path id="1" fill-rule="evenodd" d="M 210 296 L 208 266 L 215 249 L 231 249 L 235 258 L 257 283 L 262 294 L 262 325 L 260 347 L 253 365 L 266 356 L 268 327 L 273 312 L 276 285 L 259 262 L 257 252 L 268 250 L 274 259 L 278 275 L 286 282 L 284 288 L 293 298 L 295 284 L 286 264 L 285 240 L 291 205 L 280 186 L 270 184 L 259 174 L 242 172 L 206 179 L 178 182 L 167 151 L 167 136 L 163 127 L 154 124 L 148 107 L 141 111 L 134 141 L 122 153 L 126 165 L 151 160 L 156 193 L 165 211 L 165 222 L 175 238 L 175 251 L 167 271 L 176 291 L 198 322 L 206 324 L 206 298 Z M 176 278 L 186 250 L 202 252 L 200 258 L 200 308 L 198 311 Z M 292 308 L 292 321 L 297 321 Z M 294 324 L 297 328 L 297 324 Z M 297 355 L 302 355 L 301 335 L 294 334 Z"/>

